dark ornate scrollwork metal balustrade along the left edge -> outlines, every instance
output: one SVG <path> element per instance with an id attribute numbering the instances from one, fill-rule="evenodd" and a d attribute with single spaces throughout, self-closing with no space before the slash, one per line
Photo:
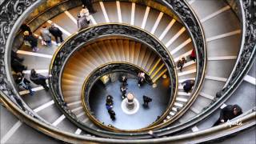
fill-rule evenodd
<path id="1" fill-rule="evenodd" d="M 14 23 L 28 9 L 36 0 L 15 0 L 4 1 L 0 6 L 0 90 L 2 94 L 6 95 L 12 102 L 19 106 L 26 114 L 37 118 L 33 112 L 27 109 L 26 104 L 22 102 L 22 98 L 14 93 L 14 86 L 10 83 L 6 76 L 5 53 L 6 41 L 10 35 L 10 31 Z M 2 97 L 1 94 L 1 97 Z"/>

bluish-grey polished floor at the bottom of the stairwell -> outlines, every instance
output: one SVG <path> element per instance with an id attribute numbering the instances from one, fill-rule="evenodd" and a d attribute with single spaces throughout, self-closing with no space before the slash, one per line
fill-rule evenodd
<path id="1" fill-rule="evenodd" d="M 170 99 L 169 79 L 160 78 L 158 86 L 153 88 L 148 84 L 138 87 L 138 81 L 134 78 L 128 78 L 127 93 L 132 92 L 139 102 L 139 110 L 136 114 L 125 114 L 121 108 L 121 91 L 119 90 L 120 82 L 110 82 L 106 85 L 95 84 L 90 93 L 90 108 L 98 120 L 105 125 L 111 124 L 122 130 L 136 130 L 150 125 L 165 110 Z M 114 112 L 116 119 L 112 121 L 106 110 L 106 95 L 112 95 L 114 98 Z M 153 99 L 149 107 L 142 106 L 142 96 L 146 95 Z"/>

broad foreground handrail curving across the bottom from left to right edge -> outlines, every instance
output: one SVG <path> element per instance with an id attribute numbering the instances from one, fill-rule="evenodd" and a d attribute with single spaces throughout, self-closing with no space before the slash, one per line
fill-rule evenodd
<path id="1" fill-rule="evenodd" d="M 256 126 L 256 112 L 255 110 L 250 110 L 242 118 L 236 118 L 231 120 L 231 122 L 226 122 L 219 126 L 214 126 L 210 129 L 197 131 L 190 134 L 180 134 L 177 136 L 170 136 L 165 138 L 154 138 L 154 139 L 114 139 L 114 138 L 97 138 L 90 137 L 86 135 L 77 135 L 58 130 L 53 126 L 48 126 L 44 122 L 40 122 L 37 119 L 30 121 L 30 116 L 25 114 L 17 106 L 10 102 L 9 98 L 4 98 L 6 96 L 0 97 L 0 102 L 2 102 L 8 110 L 10 110 L 14 115 L 16 115 L 27 125 L 40 130 L 42 133 L 50 135 L 54 138 L 58 138 L 64 142 L 70 143 L 85 143 L 85 142 L 99 142 L 99 143 L 162 143 L 162 142 L 175 142 L 175 143 L 198 143 L 198 142 L 213 142 L 220 138 L 226 138 L 232 134 L 238 134 L 243 130 L 249 129 L 250 127 Z M 237 122 L 242 123 L 242 125 L 230 125 L 236 124 Z M 222 132 L 222 133 L 220 133 Z"/>

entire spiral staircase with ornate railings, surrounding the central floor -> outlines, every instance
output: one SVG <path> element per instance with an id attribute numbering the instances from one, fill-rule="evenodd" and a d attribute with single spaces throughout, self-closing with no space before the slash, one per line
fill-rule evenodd
<path id="1" fill-rule="evenodd" d="M 1 143 L 256 142 L 254 0 L 97 0 L 93 6 L 90 26 L 78 31 L 78 0 L 1 2 Z M 25 20 L 38 35 L 54 22 L 65 42 L 38 42 L 32 52 L 18 31 Z M 34 96 L 18 90 L 11 49 L 24 58 L 26 78 L 31 69 L 53 75 L 49 92 L 34 84 Z M 190 60 L 193 49 L 196 61 Z M 187 60 L 182 71 L 176 66 L 181 57 Z M 85 109 L 85 82 L 123 63 L 144 71 L 152 86 L 161 86 L 163 75 L 170 78 L 166 112 L 141 130 L 107 126 Z M 190 93 L 182 90 L 187 79 L 196 82 Z M 242 125 L 211 127 L 230 104 L 242 107 L 244 114 L 232 121 Z"/>

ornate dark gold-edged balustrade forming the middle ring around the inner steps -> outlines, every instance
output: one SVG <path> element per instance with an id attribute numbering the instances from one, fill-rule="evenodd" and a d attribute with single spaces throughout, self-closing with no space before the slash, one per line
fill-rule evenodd
<path id="1" fill-rule="evenodd" d="M 77 34 L 71 35 L 70 38 L 66 40 L 66 42 L 62 43 L 62 46 L 60 46 L 55 52 L 54 57 L 52 58 L 52 62 L 50 64 L 50 74 L 53 75 L 53 77 L 50 78 L 50 88 L 54 94 L 54 100 L 56 100 L 56 103 L 61 108 L 62 112 L 66 115 L 67 118 L 77 121 L 77 118 L 66 106 L 66 103 L 64 102 L 64 99 L 62 97 L 62 71 L 66 65 L 66 62 L 68 61 L 70 56 L 74 54 L 75 51 L 80 50 L 83 46 L 86 45 L 86 43 L 90 41 L 95 41 L 97 38 L 104 38 L 106 36 L 121 36 L 134 39 L 138 42 L 142 42 L 151 50 L 154 50 L 154 52 L 158 54 L 159 58 L 162 59 L 162 62 L 165 63 L 170 75 L 170 95 L 173 99 L 170 102 L 170 106 L 167 107 L 165 113 L 162 114 L 161 118 L 159 118 L 156 122 L 152 123 L 152 126 L 158 124 L 162 121 L 162 119 L 166 118 L 171 110 L 171 107 L 174 105 L 175 96 L 178 90 L 178 81 L 175 65 L 173 59 L 169 54 L 169 51 L 166 50 L 165 46 L 163 46 L 157 38 L 154 38 L 152 34 L 146 32 L 145 30 L 141 30 L 136 26 L 130 26 L 120 23 L 107 23 L 90 26 L 84 30 L 79 31 Z M 78 126 L 84 127 L 81 122 L 77 121 L 75 123 Z M 82 125 L 78 123 L 81 123 Z M 162 123 L 157 126 L 160 125 L 162 125 Z"/>

